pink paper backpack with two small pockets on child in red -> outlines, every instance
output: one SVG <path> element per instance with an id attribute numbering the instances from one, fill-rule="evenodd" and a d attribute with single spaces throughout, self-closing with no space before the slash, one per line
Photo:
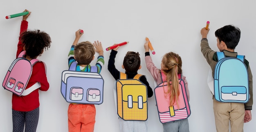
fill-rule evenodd
<path id="1" fill-rule="evenodd" d="M 20 52 L 18 58 L 16 58 L 13 63 L 11 63 L 11 66 L 8 69 L 2 83 L 4 89 L 11 91 L 18 96 L 28 95 L 40 87 L 40 83 L 37 82 L 32 87 L 29 87 L 25 90 L 32 73 L 32 66 L 36 62 L 40 61 L 38 59 L 32 59 L 29 61 L 28 59 L 24 58 L 25 53 L 26 51 Z"/>

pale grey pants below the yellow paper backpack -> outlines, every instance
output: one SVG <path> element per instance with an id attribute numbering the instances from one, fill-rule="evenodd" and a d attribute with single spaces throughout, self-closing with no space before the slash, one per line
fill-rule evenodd
<path id="1" fill-rule="evenodd" d="M 148 132 L 148 121 L 125 121 L 119 117 L 120 132 Z"/>

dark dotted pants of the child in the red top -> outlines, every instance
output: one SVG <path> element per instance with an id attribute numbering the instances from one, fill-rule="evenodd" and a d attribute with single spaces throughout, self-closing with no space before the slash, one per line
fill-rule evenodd
<path id="1" fill-rule="evenodd" d="M 39 107 L 28 111 L 12 110 L 13 132 L 23 132 L 25 125 L 25 132 L 36 132 L 39 119 Z"/>

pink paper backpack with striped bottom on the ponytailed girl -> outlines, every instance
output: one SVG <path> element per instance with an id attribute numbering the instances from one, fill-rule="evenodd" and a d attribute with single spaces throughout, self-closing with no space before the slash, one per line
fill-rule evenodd
<path id="1" fill-rule="evenodd" d="M 175 102 L 174 106 L 170 107 L 170 96 L 166 95 L 168 91 L 167 82 L 162 82 L 155 88 L 155 99 L 161 123 L 187 119 L 191 114 L 184 80 L 181 79 L 181 74 L 178 74 L 178 76 L 180 95 L 178 97 L 178 103 Z M 165 80 L 165 78 L 166 76 L 162 74 L 162 80 Z"/>

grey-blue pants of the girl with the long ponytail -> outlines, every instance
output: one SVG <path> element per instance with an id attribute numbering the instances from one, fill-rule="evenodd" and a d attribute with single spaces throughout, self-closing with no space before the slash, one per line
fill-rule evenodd
<path id="1" fill-rule="evenodd" d="M 170 123 L 163 123 L 164 132 L 189 132 L 189 120 L 183 119 Z"/>

